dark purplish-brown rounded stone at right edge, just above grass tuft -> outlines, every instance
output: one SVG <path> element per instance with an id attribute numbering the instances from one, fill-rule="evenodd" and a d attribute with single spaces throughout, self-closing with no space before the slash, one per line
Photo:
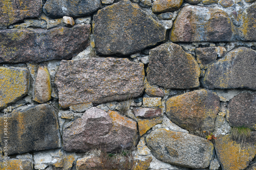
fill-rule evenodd
<path id="1" fill-rule="evenodd" d="M 233 97 L 227 106 L 226 118 L 230 126 L 256 130 L 256 93 L 245 91 Z"/>

